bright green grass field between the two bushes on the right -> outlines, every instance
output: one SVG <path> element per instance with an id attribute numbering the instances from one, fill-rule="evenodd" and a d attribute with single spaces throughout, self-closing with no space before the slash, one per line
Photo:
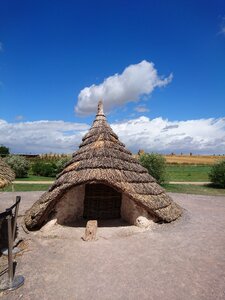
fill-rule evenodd
<path id="1" fill-rule="evenodd" d="M 168 181 L 210 181 L 209 165 L 167 165 Z"/>

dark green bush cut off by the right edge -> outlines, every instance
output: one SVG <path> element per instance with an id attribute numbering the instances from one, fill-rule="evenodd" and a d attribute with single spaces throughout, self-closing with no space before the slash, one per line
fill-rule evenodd
<path id="1" fill-rule="evenodd" d="M 215 185 L 225 188 L 225 159 L 212 166 L 209 172 L 209 179 Z"/>

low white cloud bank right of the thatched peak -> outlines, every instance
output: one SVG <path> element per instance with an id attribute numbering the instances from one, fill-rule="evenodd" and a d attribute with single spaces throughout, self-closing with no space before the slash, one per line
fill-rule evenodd
<path id="1" fill-rule="evenodd" d="M 168 121 L 140 117 L 112 124 L 113 130 L 133 152 L 140 148 L 159 152 L 225 152 L 225 118 Z"/>

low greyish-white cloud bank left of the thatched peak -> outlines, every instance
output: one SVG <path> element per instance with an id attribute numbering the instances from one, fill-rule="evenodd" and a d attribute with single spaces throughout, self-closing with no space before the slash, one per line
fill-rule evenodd
<path id="1" fill-rule="evenodd" d="M 8 123 L 0 120 L 0 145 L 14 153 L 71 153 L 89 128 L 64 121 Z"/>

